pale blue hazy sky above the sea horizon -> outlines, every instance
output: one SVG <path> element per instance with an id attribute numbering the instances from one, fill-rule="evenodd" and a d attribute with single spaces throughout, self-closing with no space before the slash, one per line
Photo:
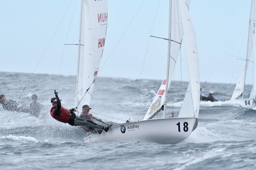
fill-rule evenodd
<path id="1" fill-rule="evenodd" d="M 35 73 L 59 74 L 60 70 L 60 74 L 76 75 L 77 46 L 64 48 L 64 44 L 66 38 L 66 43 L 78 43 L 80 1 L 73 0 L 68 9 L 70 3 L 71 0 L 0 0 L 0 71 L 32 73 L 44 54 Z M 108 1 L 108 30 L 100 68 L 142 3 L 139 0 Z M 168 38 L 168 1 L 160 1 L 156 13 L 158 3 L 158 0 L 143 3 L 99 76 L 140 77 L 155 15 L 151 35 Z M 208 82 L 237 82 L 245 61 L 230 55 L 245 58 L 250 9 L 251 0 L 191 0 L 190 15 L 196 31 L 201 82 L 211 73 Z M 167 44 L 168 41 L 150 38 L 141 78 L 164 79 Z M 179 58 L 174 79 L 181 79 L 182 70 L 182 80 L 188 80 L 184 47 L 181 63 Z M 246 84 L 252 84 L 252 63 L 246 78 Z"/>

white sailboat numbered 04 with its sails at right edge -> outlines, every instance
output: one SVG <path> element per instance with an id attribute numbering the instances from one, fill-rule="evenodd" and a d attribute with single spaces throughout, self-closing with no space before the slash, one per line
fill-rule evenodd
<path id="1" fill-rule="evenodd" d="M 255 47 L 254 36 L 255 36 L 255 0 L 252 0 L 251 15 L 249 19 L 249 31 L 248 31 L 245 66 L 237 81 L 237 84 L 231 99 L 225 101 L 226 103 L 238 104 L 241 107 L 244 107 L 247 109 L 253 109 L 256 107 L 256 51 L 255 51 L 256 47 Z M 250 96 L 249 98 L 245 98 L 245 95 L 244 95 L 245 77 L 246 77 L 246 71 L 248 68 L 248 63 L 250 61 L 251 55 L 253 57 L 254 80 L 253 80 L 253 86 L 252 86 L 252 91 L 250 93 Z"/>

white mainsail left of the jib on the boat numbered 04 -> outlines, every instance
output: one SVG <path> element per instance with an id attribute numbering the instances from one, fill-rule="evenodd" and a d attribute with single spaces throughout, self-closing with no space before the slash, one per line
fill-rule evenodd
<path id="1" fill-rule="evenodd" d="M 255 0 L 252 0 L 252 6 L 251 6 L 251 15 L 249 20 L 249 31 L 248 31 L 248 42 L 247 42 L 247 53 L 246 53 L 246 62 L 244 69 L 238 79 L 238 82 L 236 84 L 235 90 L 232 94 L 232 97 L 230 100 L 235 100 L 238 97 L 240 97 L 244 92 L 244 84 L 245 84 L 245 76 L 246 76 L 246 70 L 248 65 L 248 60 L 250 60 L 250 56 L 252 54 L 252 47 L 253 47 L 253 37 L 255 33 Z"/>

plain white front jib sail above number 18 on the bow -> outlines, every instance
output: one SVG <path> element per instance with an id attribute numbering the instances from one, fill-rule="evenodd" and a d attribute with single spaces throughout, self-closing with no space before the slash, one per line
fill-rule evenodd
<path id="1" fill-rule="evenodd" d="M 184 28 L 185 45 L 188 56 L 190 82 L 181 107 L 179 117 L 198 117 L 200 103 L 199 61 L 196 45 L 196 33 L 186 1 L 180 2 L 180 11 Z"/>

